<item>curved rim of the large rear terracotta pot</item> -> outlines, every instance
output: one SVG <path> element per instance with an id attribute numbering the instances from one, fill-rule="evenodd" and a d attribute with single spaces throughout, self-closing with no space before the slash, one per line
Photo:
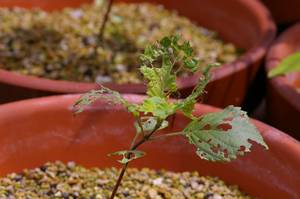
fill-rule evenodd
<path id="1" fill-rule="evenodd" d="M 269 11 L 259 1 L 240 0 L 240 2 L 246 5 L 249 9 L 253 10 L 253 13 L 255 13 L 256 17 L 258 18 L 258 25 L 263 29 L 263 34 L 261 35 L 259 42 L 257 42 L 257 44 L 247 50 L 237 60 L 214 69 L 212 72 L 211 81 L 223 79 L 230 74 L 241 71 L 248 65 L 255 63 L 257 60 L 261 59 L 266 53 L 271 42 L 275 38 L 276 26 L 271 18 Z M 193 87 L 197 83 L 198 77 L 198 75 L 192 75 L 190 77 L 178 78 L 178 88 L 185 89 Z M 35 76 L 21 75 L 16 72 L 10 72 L 4 69 L 0 69 L 0 82 L 25 88 L 33 88 L 37 90 L 52 91 L 57 93 L 79 93 L 97 87 L 97 84 L 95 83 L 51 80 Z M 117 89 L 120 92 L 128 90 L 128 87 L 132 88 L 133 93 L 145 92 L 145 86 L 143 83 L 108 83 L 103 85 L 112 89 Z"/>

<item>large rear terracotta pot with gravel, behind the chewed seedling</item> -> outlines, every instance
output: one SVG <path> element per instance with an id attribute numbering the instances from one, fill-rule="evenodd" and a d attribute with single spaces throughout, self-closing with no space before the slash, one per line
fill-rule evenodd
<path id="1" fill-rule="evenodd" d="M 84 2 L 91 2 L 91 0 L 2 0 L 0 7 L 17 5 L 53 10 L 66 6 L 79 6 Z M 200 25 L 216 30 L 225 40 L 247 50 L 235 62 L 226 64 L 213 72 L 212 82 L 207 88 L 209 94 L 205 99 L 205 102 L 216 106 L 240 105 L 266 49 L 275 35 L 275 26 L 269 12 L 256 0 L 152 0 L 151 2 L 161 3 L 169 9 L 178 10 L 179 14 L 189 17 Z M 197 76 L 193 76 L 178 80 L 182 96 L 191 91 L 197 79 Z M 85 92 L 97 87 L 92 83 L 47 80 L 22 76 L 4 70 L 0 70 L 0 83 L 2 88 L 0 102 L 42 96 L 45 95 L 45 92 L 46 94 Z M 122 93 L 145 92 L 143 84 L 108 84 L 106 86 Z M 16 87 L 18 90 L 15 90 Z M 26 89 L 26 92 L 21 92 L 22 89 Z M 2 95 L 8 96 L 5 91 L 10 92 L 9 97 L 2 97 Z"/>

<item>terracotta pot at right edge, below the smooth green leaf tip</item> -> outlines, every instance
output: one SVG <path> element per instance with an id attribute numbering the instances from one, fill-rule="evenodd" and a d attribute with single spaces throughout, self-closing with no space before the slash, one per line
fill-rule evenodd
<path id="1" fill-rule="evenodd" d="M 300 51 L 300 23 L 284 32 L 271 47 L 266 60 L 270 71 L 288 55 Z M 268 121 L 300 139 L 300 72 L 268 80 Z"/>

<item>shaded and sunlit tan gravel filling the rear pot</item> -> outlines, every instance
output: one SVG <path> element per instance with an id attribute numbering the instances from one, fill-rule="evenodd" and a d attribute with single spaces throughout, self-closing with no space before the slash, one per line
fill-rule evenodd
<path id="1" fill-rule="evenodd" d="M 101 41 L 106 1 L 96 2 L 51 13 L 0 8 L 0 68 L 57 80 L 138 83 L 138 55 L 173 34 L 191 41 L 203 66 L 238 57 L 239 50 L 217 33 L 149 3 L 114 4 Z"/>

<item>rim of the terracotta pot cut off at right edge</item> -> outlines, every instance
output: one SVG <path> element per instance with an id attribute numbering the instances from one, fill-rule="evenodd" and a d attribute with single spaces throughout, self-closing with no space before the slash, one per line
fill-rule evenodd
<path id="1" fill-rule="evenodd" d="M 300 42 L 296 44 L 295 43 L 291 44 L 287 42 L 288 38 L 298 36 L 297 32 L 299 32 L 299 30 L 300 30 L 300 23 L 297 23 L 296 25 L 292 26 L 287 31 L 285 31 L 282 35 L 278 37 L 278 39 L 276 39 L 273 42 L 266 56 L 265 68 L 267 72 L 275 68 L 281 62 L 282 58 L 280 57 L 282 54 L 286 54 L 285 49 L 278 47 L 280 44 L 286 43 L 289 46 L 291 46 L 291 48 L 293 46 L 300 46 Z M 273 53 L 273 49 L 275 48 L 280 49 L 279 51 L 277 50 L 277 52 L 279 52 L 278 54 Z M 296 91 L 295 87 L 293 87 L 293 85 L 290 83 L 288 76 L 286 75 L 277 76 L 272 79 L 269 79 L 269 82 L 272 86 L 274 86 L 274 88 L 276 88 L 276 90 L 280 91 L 278 92 L 278 95 L 286 99 L 286 101 L 289 101 L 291 104 L 293 104 L 294 107 L 300 110 L 300 104 L 299 104 L 300 94 Z"/>

